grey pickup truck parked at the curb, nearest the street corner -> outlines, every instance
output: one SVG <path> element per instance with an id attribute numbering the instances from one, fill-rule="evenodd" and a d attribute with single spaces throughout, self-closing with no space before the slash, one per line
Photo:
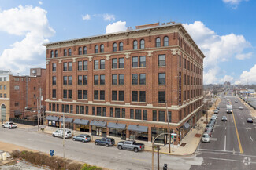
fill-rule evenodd
<path id="1" fill-rule="evenodd" d="M 135 140 L 126 140 L 117 143 L 117 148 L 119 150 L 134 150 L 135 152 L 138 152 L 140 150 L 144 150 L 144 147 L 145 145 L 143 143 L 136 143 Z"/>

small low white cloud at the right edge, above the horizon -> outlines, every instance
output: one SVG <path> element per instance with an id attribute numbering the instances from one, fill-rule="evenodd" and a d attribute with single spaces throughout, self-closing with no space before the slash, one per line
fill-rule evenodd
<path id="1" fill-rule="evenodd" d="M 250 71 L 243 71 L 239 80 L 235 82 L 236 85 L 247 83 L 249 85 L 256 84 L 256 64 L 250 68 Z"/>

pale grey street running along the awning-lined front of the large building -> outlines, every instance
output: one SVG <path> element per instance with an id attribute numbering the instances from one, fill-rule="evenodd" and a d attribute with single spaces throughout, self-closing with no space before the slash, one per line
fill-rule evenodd
<path id="1" fill-rule="evenodd" d="M 63 156 L 62 139 L 54 138 L 42 132 L 36 132 L 36 127 L 31 129 L 0 128 L 0 140 L 13 143 L 32 150 Z M 91 165 L 98 165 L 110 169 L 151 169 L 152 154 L 147 151 L 135 153 L 129 150 L 118 150 L 116 146 L 95 146 L 94 143 L 81 143 L 66 139 L 65 157 L 76 161 L 83 161 Z M 169 169 L 190 169 L 191 165 L 201 165 L 202 157 L 184 156 L 176 157 L 160 154 L 160 169 L 164 164 Z M 157 155 L 154 156 L 154 169 L 157 169 Z"/>

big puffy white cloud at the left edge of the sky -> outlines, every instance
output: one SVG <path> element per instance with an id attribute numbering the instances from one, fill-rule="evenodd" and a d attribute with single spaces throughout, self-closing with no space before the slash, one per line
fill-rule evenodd
<path id="1" fill-rule="evenodd" d="M 30 5 L 20 5 L 18 8 L 0 12 L 0 31 L 24 37 L 0 54 L 0 60 L 4 61 L 0 63 L 1 69 L 28 74 L 30 67 L 46 66 L 46 49 L 42 44 L 49 42 L 46 38 L 55 34 L 48 23 L 46 13 L 46 10 Z"/>

